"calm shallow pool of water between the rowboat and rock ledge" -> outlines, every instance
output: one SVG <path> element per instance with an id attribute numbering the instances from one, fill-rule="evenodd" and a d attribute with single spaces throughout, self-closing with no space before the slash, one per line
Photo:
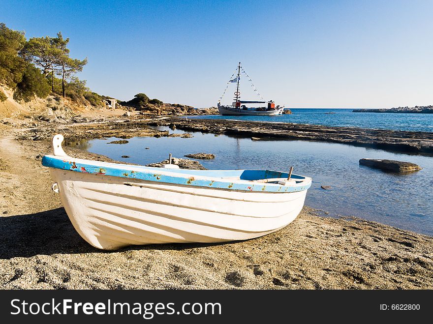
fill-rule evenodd
<path id="1" fill-rule="evenodd" d="M 168 130 L 168 128 L 162 128 Z M 173 132 L 170 130 L 170 132 Z M 176 130 L 176 133 L 183 131 Z M 145 165 L 189 153 L 213 153 L 214 160 L 200 163 L 208 169 L 271 169 L 313 178 L 306 205 L 331 215 L 354 215 L 369 220 L 433 235 L 433 158 L 392 153 L 350 145 L 306 141 L 251 141 L 224 135 L 192 133 L 193 138 L 141 137 L 125 145 L 107 145 L 115 140 L 80 141 L 77 147 L 115 160 Z M 145 149 L 149 147 L 149 149 Z M 121 156 L 128 155 L 129 159 Z M 359 166 L 361 158 L 413 162 L 423 170 L 405 175 L 384 173 Z M 321 185 L 332 186 L 323 190 Z"/>

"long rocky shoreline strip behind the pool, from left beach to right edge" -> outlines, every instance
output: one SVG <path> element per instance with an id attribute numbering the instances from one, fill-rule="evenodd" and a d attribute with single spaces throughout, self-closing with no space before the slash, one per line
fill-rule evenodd
<path id="1" fill-rule="evenodd" d="M 415 154 L 433 153 L 433 133 L 410 132 L 356 127 L 331 127 L 263 121 L 236 121 L 223 119 L 194 119 L 182 117 L 155 117 L 130 114 L 104 118 L 74 117 L 66 123 L 39 120 L 35 122 L 3 123 L 18 129 L 20 140 L 49 140 L 62 133 L 67 141 L 80 139 L 135 136 L 178 136 L 155 126 L 168 126 L 184 131 L 249 137 L 254 140 L 304 140 L 372 147 Z M 184 136 L 186 136 L 184 134 Z M 190 136 L 190 135 L 189 135 Z"/>

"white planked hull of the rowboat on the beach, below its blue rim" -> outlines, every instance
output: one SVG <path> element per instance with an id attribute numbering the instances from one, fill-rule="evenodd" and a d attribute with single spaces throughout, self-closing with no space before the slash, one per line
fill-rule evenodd
<path id="1" fill-rule="evenodd" d="M 301 211 L 307 190 L 251 192 L 50 168 L 74 228 L 99 249 L 263 236 Z"/>

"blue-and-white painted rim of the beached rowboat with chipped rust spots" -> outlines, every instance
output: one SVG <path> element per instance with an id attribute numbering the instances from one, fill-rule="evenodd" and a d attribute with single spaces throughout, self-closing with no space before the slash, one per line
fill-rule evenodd
<path id="1" fill-rule="evenodd" d="M 290 186 L 273 183 L 236 183 L 236 180 L 223 177 L 240 177 L 241 180 L 257 180 L 265 178 L 288 177 L 287 173 L 270 170 L 187 170 L 187 169 L 162 169 L 135 166 L 128 164 L 98 162 L 98 165 L 90 164 L 91 160 L 76 160 L 70 157 L 58 157 L 45 155 L 42 165 L 67 171 L 98 174 L 112 177 L 124 177 L 141 179 L 153 182 L 171 183 L 179 185 L 191 185 L 207 188 L 220 188 L 229 190 L 259 191 L 259 192 L 297 192 L 307 190 L 311 182 L 300 182 Z M 161 174 L 163 173 L 163 174 Z M 172 174 L 172 175 L 169 175 Z M 195 179 L 193 176 L 211 177 L 212 179 Z M 219 179 L 220 178 L 220 179 Z M 305 180 L 306 177 L 292 175 L 293 180 Z"/>

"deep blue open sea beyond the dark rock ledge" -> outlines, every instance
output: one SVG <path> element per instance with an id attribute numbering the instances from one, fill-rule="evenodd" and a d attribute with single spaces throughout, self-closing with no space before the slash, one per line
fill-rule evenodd
<path id="1" fill-rule="evenodd" d="M 353 126 L 373 129 L 433 132 L 433 114 L 352 113 L 352 108 L 291 108 L 290 110 L 292 111 L 291 115 L 280 116 L 212 115 L 194 116 L 191 118 L 277 121 L 325 126 Z"/>

